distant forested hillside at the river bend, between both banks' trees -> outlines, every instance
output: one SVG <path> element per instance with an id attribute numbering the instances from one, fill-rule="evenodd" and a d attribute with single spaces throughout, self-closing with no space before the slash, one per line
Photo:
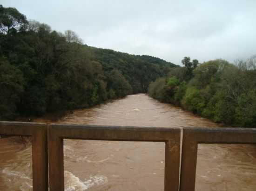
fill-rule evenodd
<path id="1" fill-rule="evenodd" d="M 160 76 L 165 76 L 175 64 L 150 56 L 135 56 L 108 49 L 88 47 L 94 60 L 101 63 L 103 70 L 119 70 L 132 86 L 132 93 L 147 93 L 148 85 Z"/>

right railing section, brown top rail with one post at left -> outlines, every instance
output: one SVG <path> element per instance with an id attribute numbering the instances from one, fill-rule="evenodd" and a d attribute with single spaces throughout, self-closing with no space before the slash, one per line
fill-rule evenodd
<path id="1" fill-rule="evenodd" d="M 256 128 L 183 128 L 180 191 L 195 191 L 197 145 L 256 144 Z"/>

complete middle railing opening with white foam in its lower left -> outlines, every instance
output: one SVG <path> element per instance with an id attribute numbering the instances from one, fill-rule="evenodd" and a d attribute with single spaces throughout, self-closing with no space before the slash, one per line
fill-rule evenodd
<path id="1" fill-rule="evenodd" d="M 165 142 L 64 139 L 65 190 L 163 191 Z"/>

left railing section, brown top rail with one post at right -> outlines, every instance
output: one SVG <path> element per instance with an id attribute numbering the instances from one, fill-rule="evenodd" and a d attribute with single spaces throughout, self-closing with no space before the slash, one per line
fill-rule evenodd
<path id="1" fill-rule="evenodd" d="M 33 190 L 48 191 L 47 124 L 0 121 L 0 135 L 32 137 Z"/>

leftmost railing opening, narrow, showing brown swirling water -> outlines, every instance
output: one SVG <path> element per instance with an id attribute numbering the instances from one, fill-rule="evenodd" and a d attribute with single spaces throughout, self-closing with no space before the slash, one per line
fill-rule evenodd
<path id="1" fill-rule="evenodd" d="M 31 136 L 0 136 L 0 191 L 33 190 Z"/>

